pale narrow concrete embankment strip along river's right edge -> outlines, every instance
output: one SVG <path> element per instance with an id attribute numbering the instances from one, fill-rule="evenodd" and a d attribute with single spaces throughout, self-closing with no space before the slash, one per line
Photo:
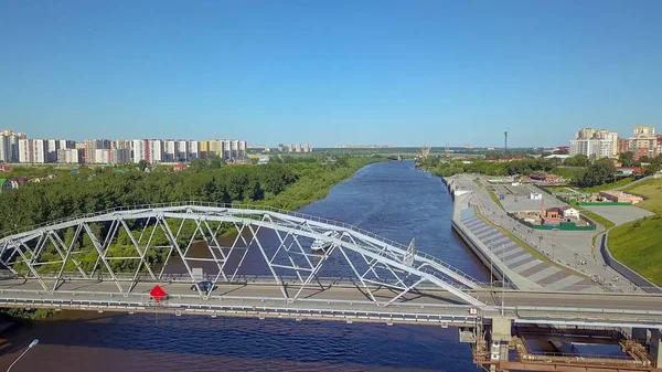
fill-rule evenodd
<path id="1" fill-rule="evenodd" d="M 492 275 L 501 280 L 505 280 L 509 285 L 519 289 L 540 289 L 541 285 L 523 277 L 522 275 L 510 269 L 492 251 L 488 248 L 485 242 L 482 242 L 470 228 L 462 222 L 462 216 L 473 215 L 474 210 L 471 205 L 471 191 L 459 187 L 452 178 L 442 178 L 444 183 L 448 187 L 453 200 L 453 214 L 451 220 L 452 228 L 467 243 L 469 248 L 478 256 L 478 258 L 490 268 Z"/>

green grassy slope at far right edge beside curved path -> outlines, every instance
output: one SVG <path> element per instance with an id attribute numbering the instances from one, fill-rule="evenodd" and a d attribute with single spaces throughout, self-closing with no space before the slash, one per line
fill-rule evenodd
<path id="1" fill-rule="evenodd" d="M 662 179 L 643 181 L 627 191 L 649 198 L 637 205 L 656 215 L 611 230 L 609 251 L 621 263 L 662 285 Z"/>

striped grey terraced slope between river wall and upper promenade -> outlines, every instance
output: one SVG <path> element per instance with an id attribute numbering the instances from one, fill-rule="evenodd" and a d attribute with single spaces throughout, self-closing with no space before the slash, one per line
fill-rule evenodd
<path id="1" fill-rule="evenodd" d="M 601 291 L 591 280 L 532 255 L 501 231 L 476 216 L 472 208 L 460 211 L 460 219 L 505 266 L 523 277 L 552 290 Z"/>

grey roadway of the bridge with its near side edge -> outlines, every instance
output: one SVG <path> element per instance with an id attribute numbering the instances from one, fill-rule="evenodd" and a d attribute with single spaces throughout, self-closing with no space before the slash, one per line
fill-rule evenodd
<path id="1" fill-rule="evenodd" d="M 49 283 L 46 283 L 49 284 Z M 25 300 L 111 300 L 114 302 L 137 301 L 149 304 L 150 289 L 157 283 L 139 283 L 126 297 L 118 293 L 114 281 L 72 280 L 60 286 L 52 295 L 43 290 L 36 280 L 8 279 L 0 281 L 0 300 L 11 302 Z M 191 290 L 191 283 L 158 283 L 169 295 L 170 302 L 181 307 L 189 306 L 277 306 L 290 310 L 331 309 L 345 312 L 378 311 L 380 313 L 401 315 L 442 315 L 468 317 L 469 305 L 459 304 L 455 295 L 438 287 L 421 287 L 398 298 L 388 306 L 375 306 L 365 288 L 350 285 L 321 283 L 301 291 L 293 302 L 282 297 L 281 288 L 275 284 L 222 284 L 204 299 L 197 291 Z M 293 297 L 299 286 L 288 287 L 288 296 Z M 397 293 L 389 288 L 372 287 L 373 296 L 385 305 Z M 506 316 L 522 321 L 552 319 L 570 323 L 572 319 L 586 322 L 627 323 L 647 322 L 662 327 L 662 296 L 650 294 L 573 294 L 520 291 L 489 288 L 468 290 L 485 304 L 481 315 L 498 316 L 504 306 Z M 125 299 L 126 298 L 126 299 Z M 502 302 L 503 298 L 503 302 Z M 287 304 L 287 305 L 285 305 Z"/>

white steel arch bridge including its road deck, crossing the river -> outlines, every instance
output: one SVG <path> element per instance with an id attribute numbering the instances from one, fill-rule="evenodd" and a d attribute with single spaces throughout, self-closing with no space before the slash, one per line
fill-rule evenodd
<path id="1" fill-rule="evenodd" d="M 232 228 L 238 233 L 224 234 Z M 4 307 L 662 327 L 660 295 L 494 288 L 415 251 L 413 242 L 264 206 L 118 208 L 0 236 Z M 324 249 L 312 252 L 316 241 Z M 256 263 L 261 268 L 252 272 Z M 161 301 L 150 296 L 154 285 L 168 294 Z"/>

